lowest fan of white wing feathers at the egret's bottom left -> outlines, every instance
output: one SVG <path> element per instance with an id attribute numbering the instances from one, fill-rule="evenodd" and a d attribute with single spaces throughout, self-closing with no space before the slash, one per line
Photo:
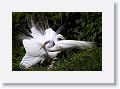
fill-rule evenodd
<path id="1" fill-rule="evenodd" d="M 39 62 L 43 62 L 45 60 L 46 57 L 44 57 L 44 55 L 41 56 L 31 56 L 28 53 L 25 54 L 25 56 L 23 57 L 22 61 L 20 62 L 20 65 L 25 67 L 25 68 L 29 68 Z"/>

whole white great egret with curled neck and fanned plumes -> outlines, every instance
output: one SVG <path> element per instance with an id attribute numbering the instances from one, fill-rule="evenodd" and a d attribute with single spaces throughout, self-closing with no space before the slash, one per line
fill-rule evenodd
<path id="1" fill-rule="evenodd" d="M 23 39 L 23 45 L 26 54 L 20 65 L 29 68 L 37 63 L 43 63 L 48 57 L 56 58 L 56 56 L 65 49 L 69 48 L 86 48 L 91 47 L 93 42 L 65 40 L 65 38 L 53 31 L 51 28 L 46 30 L 37 29 L 31 20 L 31 36 Z"/>

